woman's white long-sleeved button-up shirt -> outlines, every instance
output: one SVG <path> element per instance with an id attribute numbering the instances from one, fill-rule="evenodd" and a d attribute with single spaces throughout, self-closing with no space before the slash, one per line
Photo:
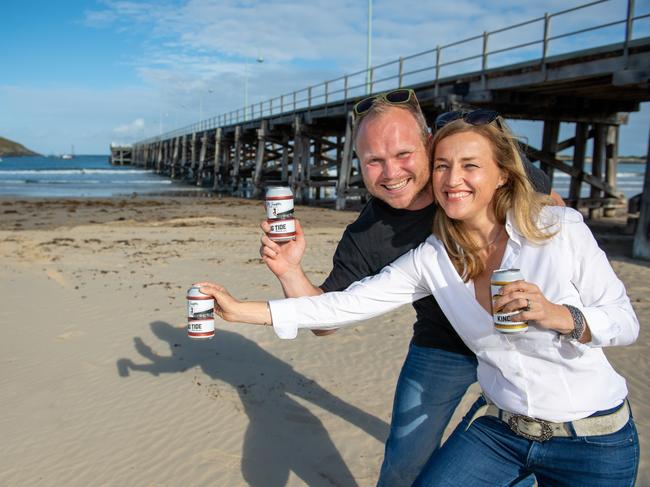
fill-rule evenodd
<path id="1" fill-rule="evenodd" d="M 546 207 L 540 220 L 553 223 L 557 234 L 534 244 L 508 216 L 509 240 L 501 268 L 520 269 L 549 301 L 578 307 L 591 331 L 588 344 L 534 322 L 523 334 L 497 332 L 492 316 L 476 300 L 472 283 L 463 282 L 434 236 L 345 291 L 271 301 L 275 331 L 281 338 L 294 338 L 298 328 L 350 324 L 433 294 L 476 354 L 484 394 L 500 408 L 559 422 L 617 406 L 627 396 L 625 379 L 609 364 L 602 347 L 626 345 L 638 335 L 625 287 L 580 213 Z"/>

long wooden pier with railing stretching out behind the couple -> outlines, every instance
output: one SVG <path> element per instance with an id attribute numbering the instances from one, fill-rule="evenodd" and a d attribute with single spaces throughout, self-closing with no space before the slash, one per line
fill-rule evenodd
<path id="1" fill-rule="evenodd" d="M 267 186 L 290 186 L 298 202 L 331 202 L 337 209 L 364 200 L 366 190 L 352 148 L 352 107 L 370 92 L 413 88 L 427 120 L 441 112 L 485 107 L 511 119 L 543 122 L 541 147 L 526 146 L 531 161 L 539 161 L 553 179 L 558 171 L 570 176 L 566 202 L 589 208 L 591 217 L 611 215 L 626 201 L 617 189 L 618 133 L 630 112 L 650 100 L 650 37 L 633 38 L 635 23 L 650 14 L 612 12 L 619 21 L 555 35 L 552 21 L 603 2 L 522 22 L 494 32 L 454 42 L 413 56 L 329 80 L 234 112 L 136 143 L 133 164 L 215 191 L 260 197 Z M 620 42 L 559 55 L 547 53 L 554 42 L 585 32 L 619 25 Z M 490 50 L 490 40 L 504 31 L 539 25 L 539 40 Z M 458 47 L 480 42 L 480 52 Z M 538 46 L 540 56 L 507 65 L 491 59 L 504 52 Z M 434 60 L 422 67 L 423 60 Z M 470 72 L 445 75 L 458 64 L 475 63 Z M 368 75 L 368 76 L 367 76 Z M 571 137 L 560 140 L 560 124 L 571 123 Z M 587 147 L 591 141 L 591 151 Z M 570 161 L 558 154 L 572 148 Z M 127 151 L 116 151 L 124 154 Z M 592 161 L 585 170 L 585 161 Z M 646 176 L 646 181 L 648 177 Z M 581 195 L 583 184 L 589 195 Z M 645 188 L 647 195 L 650 188 Z M 647 199 L 647 198 L 646 198 Z M 644 199 L 644 203 L 646 203 Z M 647 207 L 644 206 L 643 208 Z M 648 234 L 647 218 L 645 234 Z M 642 231 L 642 233 L 643 233 Z"/>

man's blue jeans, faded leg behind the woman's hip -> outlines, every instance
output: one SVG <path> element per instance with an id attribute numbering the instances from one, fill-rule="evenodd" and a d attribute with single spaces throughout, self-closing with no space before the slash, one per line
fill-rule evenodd
<path id="1" fill-rule="evenodd" d="M 411 345 L 397 381 L 378 487 L 409 486 L 465 394 L 476 382 L 476 357 Z"/>

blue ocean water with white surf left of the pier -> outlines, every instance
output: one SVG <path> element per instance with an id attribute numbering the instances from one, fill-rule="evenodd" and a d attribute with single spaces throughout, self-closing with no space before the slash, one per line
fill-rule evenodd
<path id="1" fill-rule="evenodd" d="M 135 166 L 112 166 L 108 156 L 3 157 L 0 197 L 112 198 L 205 191 Z"/>

